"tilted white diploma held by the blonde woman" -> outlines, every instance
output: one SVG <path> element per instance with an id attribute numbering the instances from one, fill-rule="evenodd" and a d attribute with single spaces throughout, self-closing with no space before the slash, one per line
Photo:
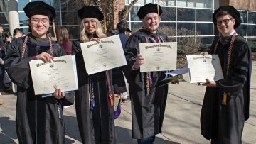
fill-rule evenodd
<path id="1" fill-rule="evenodd" d="M 90 41 L 80 45 L 88 74 L 127 65 L 119 35 L 101 38 L 100 42 Z"/>

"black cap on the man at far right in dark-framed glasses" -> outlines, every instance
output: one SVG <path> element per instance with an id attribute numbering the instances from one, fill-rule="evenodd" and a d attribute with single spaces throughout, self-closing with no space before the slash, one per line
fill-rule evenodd
<path id="1" fill-rule="evenodd" d="M 235 19 L 235 26 L 234 28 L 238 28 L 241 24 L 241 16 L 240 13 L 233 7 L 233 6 L 220 6 L 214 13 L 213 13 L 213 23 L 217 25 L 217 18 L 215 17 L 219 11 L 227 11 L 230 16 Z"/>

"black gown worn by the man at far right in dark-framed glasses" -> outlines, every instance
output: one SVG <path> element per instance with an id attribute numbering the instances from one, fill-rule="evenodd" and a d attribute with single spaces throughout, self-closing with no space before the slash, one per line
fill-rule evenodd
<path id="1" fill-rule="evenodd" d="M 213 53 L 217 40 L 213 42 Z M 229 43 L 218 43 L 216 54 L 225 75 Z M 230 58 L 230 73 L 216 82 L 216 87 L 206 87 L 201 110 L 201 133 L 214 143 L 242 143 L 242 129 L 249 118 L 250 75 L 252 57 L 250 46 L 236 35 Z M 227 105 L 222 104 L 223 92 L 228 94 Z"/>

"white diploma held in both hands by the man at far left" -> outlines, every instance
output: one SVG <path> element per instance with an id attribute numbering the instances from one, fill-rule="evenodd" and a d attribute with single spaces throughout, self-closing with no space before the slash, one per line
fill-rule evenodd
<path id="1" fill-rule="evenodd" d="M 68 92 L 78 89 L 75 56 L 54 57 L 52 62 L 29 62 L 35 94 L 53 94 L 55 89 Z"/>

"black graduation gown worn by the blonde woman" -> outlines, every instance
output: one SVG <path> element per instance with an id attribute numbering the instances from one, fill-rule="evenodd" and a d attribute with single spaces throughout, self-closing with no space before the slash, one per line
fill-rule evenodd
<path id="1" fill-rule="evenodd" d="M 110 106 L 106 74 L 105 72 L 87 74 L 80 43 L 82 43 L 80 40 L 73 40 L 72 48 L 76 58 L 79 87 L 79 90 L 75 92 L 75 111 L 82 143 L 116 143 L 114 106 Z M 108 70 L 108 73 L 112 94 L 113 90 L 114 93 L 126 92 L 124 79 L 119 79 L 119 77 L 113 79 L 112 70 Z M 95 97 L 93 110 L 90 110 L 90 94 L 94 94 Z"/>

